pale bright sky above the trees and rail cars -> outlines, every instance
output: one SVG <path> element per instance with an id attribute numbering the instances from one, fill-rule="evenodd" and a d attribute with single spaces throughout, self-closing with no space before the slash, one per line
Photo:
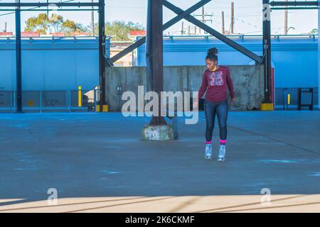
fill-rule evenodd
<path id="1" fill-rule="evenodd" d="M 15 0 L 0 0 L 0 2 L 14 2 Z M 21 0 L 21 2 L 46 2 L 46 0 Z M 58 0 L 49 0 L 50 2 L 58 2 Z M 90 2 L 91 0 L 75 0 L 75 2 Z M 97 0 L 94 0 L 97 1 Z M 179 8 L 186 10 L 196 4 L 199 0 L 169 0 Z M 212 19 L 207 22 L 208 26 L 212 26 L 217 31 L 221 31 L 222 11 L 225 14 L 225 30 L 229 30 L 231 21 L 231 1 L 232 0 L 212 0 L 205 5 L 206 19 Z M 262 0 L 233 0 L 235 4 L 235 33 L 244 33 L 247 35 L 262 34 Z M 146 6 L 147 0 L 105 0 L 105 20 L 106 21 L 132 21 L 139 23 L 146 28 Z M 4 30 L 4 23 L 7 22 L 7 31 L 14 31 L 14 13 L 7 14 L 8 11 L 0 11 L 0 31 Z M 21 13 L 22 30 L 26 25 L 29 17 L 37 16 L 38 11 L 23 11 Z M 82 23 L 86 26 L 90 25 L 90 11 L 59 11 L 65 19 Z M 199 9 L 195 12 L 201 14 Z M 175 13 L 164 7 L 164 23 L 176 16 Z M 272 11 L 271 14 L 272 34 L 284 33 L 284 11 Z M 316 10 L 289 10 L 288 13 L 288 34 L 309 33 L 313 28 L 318 28 L 318 11 Z M 200 17 L 198 17 L 200 19 Z M 95 12 L 95 21 L 97 21 L 97 12 Z M 185 29 L 193 25 L 183 20 Z M 181 21 L 164 33 L 171 35 L 181 34 Z"/>

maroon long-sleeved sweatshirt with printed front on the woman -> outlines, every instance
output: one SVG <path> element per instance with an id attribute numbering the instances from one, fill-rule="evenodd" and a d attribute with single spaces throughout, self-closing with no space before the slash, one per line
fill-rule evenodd
<path id="1" fill-rule="evenodd" d="M 228 89 L 230 91 L 231 99 L 235 98 L 235 91 L 233 90 L 233 81 L 230 77 L 228 67 L 219 66 L 215 72 L 206 70 L 203 73 L 202 84 L 198 92 L 198 99 L 201 99 L 206 92 L 205 99 L 212 102 L 225 101 L 227 99 Z"/>

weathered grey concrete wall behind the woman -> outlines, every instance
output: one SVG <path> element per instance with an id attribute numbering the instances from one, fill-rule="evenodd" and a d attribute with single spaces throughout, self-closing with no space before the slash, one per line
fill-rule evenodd
<path id="1" fill-rule="evenodd" d="M 260 109 L 264 97 L 263 66 L 231 65 L 228 67 L 235 87 L 235 103 L 230 103 L 230 111 Z M 136 95 L 138 95 L 139 85 L 145 86 L 144 92 L 149 90 L 146 88 L 149 80 L 146 67 L 113 67 L 107 70 L 110 72 L 107 73 L 105 84 L 110 111 L 119 111 L 123 104 L 120 100 L 121 95 L 117 93 L 117 86 L 122 86 L 122 92 L 132 91 Z M 164 67 L 164 91 L 198 92 L 204 70 L 206 70 L 204 66 Z"/>

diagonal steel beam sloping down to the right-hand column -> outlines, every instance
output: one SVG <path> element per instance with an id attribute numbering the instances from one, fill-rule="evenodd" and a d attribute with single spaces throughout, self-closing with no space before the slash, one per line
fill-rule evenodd
<path id="1" fill-rule="evenodd" d="M 164 6 L 166 6 L 168 9 L 171 9 L 171 11 L 174 11 L 174 13 L 177 13 L 177 14 L 183 13 L 182 9 L 178 8 L 177 6 L 174 6 L 174 4 L 171 4 L 169 1 L 164 0 Z M 205 23 L 198 21 L 193 16 L 188 15 L 186 16 L 185 19 L 193 23 L 194 25 L 198 26 L 199 28 L 203 29 L 203 31 L 206 31 L 210 33 L 210 35 L 213 35 L 219 40 L 223 41 L 223 43 L 226 43 L 230 45 L 232 48 L 235 48 L 235 50 L 242 52 L 242 54 L 246 55 L 247 57 L 250 57 L 252 60 L 255 60 L 255 62 L 261 62 L 262 60 L 261 57 L 255 55 L 255 53 L 251 52 L 250 50 L 247 50 L 246 48 L 242 47 L 242 45 L 236 43 L 230 38 L 227 38 L 225 35 L 219 33 L 218 31 L 215 31 L 213 28 L 210 28 Z"/>

